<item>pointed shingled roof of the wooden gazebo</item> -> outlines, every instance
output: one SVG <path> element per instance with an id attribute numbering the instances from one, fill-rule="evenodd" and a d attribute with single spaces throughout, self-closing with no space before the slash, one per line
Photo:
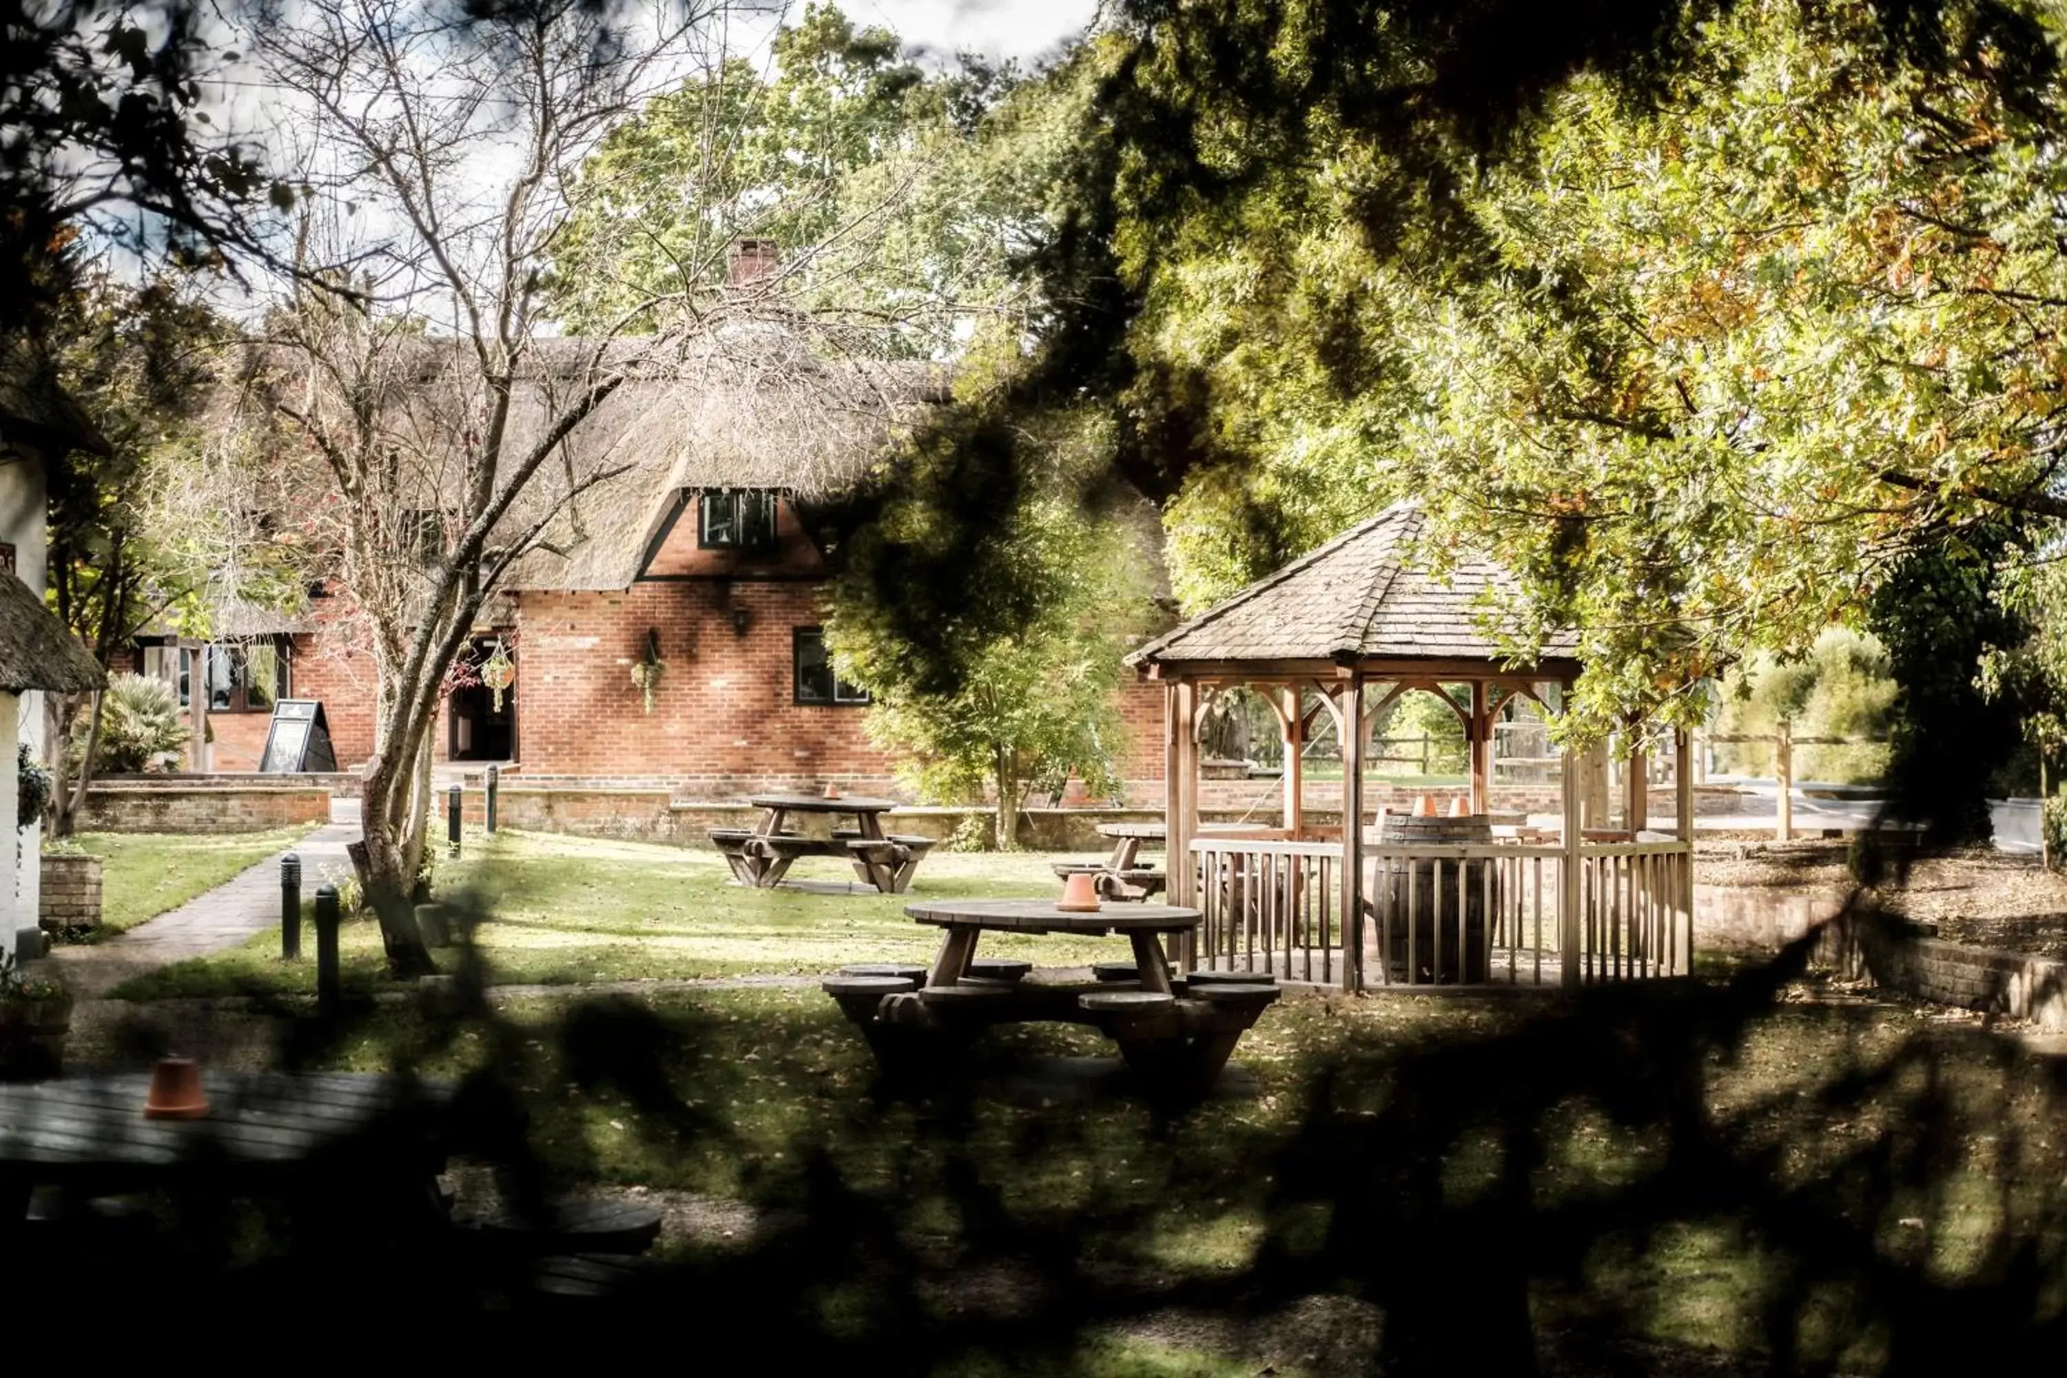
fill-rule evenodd
<path id="1" fill-rule="evenodd" d="M 1418 552 L 1426 514 L 1399 502 L 1217 607 L 1158 636 L 1129 665 L 1381 659 L 1488 661 L 1507 653 L 1486 626 L 1519 599 L 1505 568 L 1468 556 L 1437 574 Z M 1573 636 L 1544 647 L 1569 659 Z"/>

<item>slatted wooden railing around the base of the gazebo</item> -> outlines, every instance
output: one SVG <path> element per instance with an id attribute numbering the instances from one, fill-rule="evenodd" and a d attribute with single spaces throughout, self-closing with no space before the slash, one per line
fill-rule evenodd
<path id="1" fill-rule="evenodd" d="M 1201 909 L 1191 963 L 1360 988 L 1556 985 L 1685 975 L 1691 847 L 1583 843 L 1567 926 L 1561 845 L 1364 847 L 1362 921 L 1341 942 L 1341 843 L 1207 835 L 1191 843 Z"/>

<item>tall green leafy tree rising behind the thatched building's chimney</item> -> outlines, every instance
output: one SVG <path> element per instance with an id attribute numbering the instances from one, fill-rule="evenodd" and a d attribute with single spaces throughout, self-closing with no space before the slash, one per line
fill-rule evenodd
<path id="1" fill-rule="evenodd" d="M 1009 70 L 926 74 L 897 35 L 810 4 L 761 72 L 728 58 L 647 101 L 583 163 L 552 300 L 583 333 L 649 331 L 653 302 L 721 283 L 740 238 L 777 246 L 785 293 L 845 347 L 938 353 L 971 295 L 967 171 Z M 982 238 L 982 231 L 974 231 Z"/>

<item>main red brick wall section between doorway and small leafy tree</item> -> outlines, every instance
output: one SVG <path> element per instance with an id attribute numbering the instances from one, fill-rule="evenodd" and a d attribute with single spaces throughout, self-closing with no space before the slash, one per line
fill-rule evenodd
<path id="1" fill-rule="evenodd" d="M 736 607 L 748 616 L 744 636 L 732 628 Z M 525 775 L 635 775 L 699 795 L 825 781 L 891 785 L 891 758 L 868 746 L 862 709 L 792 702 L 792 630 L 821 624 L 816 583 L 521 593 L 517 609 Z M 659 632 L 668 665 L 651 715 L 630 682 L 647 628 Z"/>

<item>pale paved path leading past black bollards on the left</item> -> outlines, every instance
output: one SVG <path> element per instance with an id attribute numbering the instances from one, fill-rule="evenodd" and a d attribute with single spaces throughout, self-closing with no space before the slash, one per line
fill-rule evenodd
<path id="1" fill-rule="evenodd" d="M 333 814 L 335 818 L 335 814 Z M 302 892 L 314 895 L 325 868 L 347 870 L 345 843 L 358 841 L 358 822 L 329 822 L 291 847 L 302 857 Z M 186 961 L 234 948 L 252 934 L 279 923 L 281 849 L 232 880 L 196 895 L 178 909 L 136 928 L 85 946 L 60 946 L 52 961 L 79 1000 L 103 1000 L 122 981 Z"/>

